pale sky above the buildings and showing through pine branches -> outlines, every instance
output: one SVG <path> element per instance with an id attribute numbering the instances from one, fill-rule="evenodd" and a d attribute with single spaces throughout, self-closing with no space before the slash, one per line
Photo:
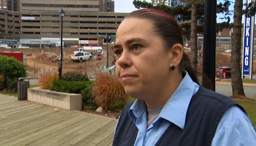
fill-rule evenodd
<path id="1" fill-rule="evenodd" d="M 115 1 L 115 12 L 132 12 L 134 10 L 138 10 L 133 5 L 133 0 L 114 0 Z M 143 1 L 143 0 L 141 0 Z M 145 0 L 147 2 L 151 2 L 151 0 Z M 231 2 L 235 2 L 235 0 L 230 0 Z M 243 0 L 245 3 L 245 0 Z M 224 0 L 217 0 L 217 3 L 222 2 L 224 3 Z M 234 4 L 231 3 L 231 6 L 229 7 L 229 10 L 234 10 Z M 222 15 L 219 15 L 218 17 L 222 17 Z M 217 23 L 222 22 L 223 20 L 218 19 L 217 17 Z M 230 16 L 231 22 L 233 22 L 233 16 Z"/>

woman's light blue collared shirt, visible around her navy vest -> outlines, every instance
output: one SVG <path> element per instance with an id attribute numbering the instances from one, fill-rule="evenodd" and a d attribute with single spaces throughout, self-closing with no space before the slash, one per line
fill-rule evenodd
<path id="1" fill-rule="evenodd" d="M 160 115 L 148 128 L 147 107 L 143 100 L 135 100 L 128 111 L 130 118 L 139 129 L 134 146 L 155 145 L 170 123 L 184 129 L 190 100 L 198 90 L 199 85 L 186 73 L 177 90 L 163 106 Z M 251 121 L 237 106 L 232 106 L 225 112 L 211 145 L 256 146 L 256 133 Z"/>

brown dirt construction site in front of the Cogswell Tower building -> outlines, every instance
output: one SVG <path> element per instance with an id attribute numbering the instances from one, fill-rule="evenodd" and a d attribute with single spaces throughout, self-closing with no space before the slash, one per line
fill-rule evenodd
<path id="1" fill-rule="evenodd" d="M 115 62 L 114 52 L 110 49 L 111 46 L 103 46 L 103 52 L 108 50 L 108 66 Z M 88 61 L 83 62 L 73 62 L 71 60 L 72 52 L 76 48 L 63 48 L 63 65 L 62 73 L 69 71 L 77 71 L 80 73 L 86 72 L 95 72 L 106 67 L 107 57 L 106 54 L 102 54 L 102 60 L 97 60 L 96 55 L 98 53 L 93 52 L 93 58 Z M 26 54 L 26 69 L 29 72 L 29 78 L 38 78 L 38 71 L 42 68 L 52 68 L 53 70 L 58 70 L 58 63 L 60 63 L 60 48 L 29 48 L 29 49 L 6 49 L 0 48 L 0 52 L 22 52 Z M 184 51 L 190 56 L 190 51 Z M 198 51 L 200 56 L 199 66 L 197 71 L 202 73 L 203 69 L 203 51 Z M 241 62 L 242 64 L 242 62 Z M 231 66 L 231 53 L 224 51 L 216 51 L 216 68 L 219 66 Z M 253 60 L 253 74 L 256 74 L 256 60 Z"/>

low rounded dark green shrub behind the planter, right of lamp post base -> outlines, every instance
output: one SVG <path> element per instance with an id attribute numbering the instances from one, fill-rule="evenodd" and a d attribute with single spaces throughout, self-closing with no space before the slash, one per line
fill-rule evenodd
<path id="1" fill-rule="evenodd" d="M 64 81 L 89 81 L 89 78 L 86 75 L 83 75 L 82 73 L 71 71 L 64 73 L 62 75 L 62 80 Z"/>

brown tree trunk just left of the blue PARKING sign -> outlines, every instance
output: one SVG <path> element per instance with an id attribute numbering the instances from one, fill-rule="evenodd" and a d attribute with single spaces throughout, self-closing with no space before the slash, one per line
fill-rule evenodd
<path id="1" fill-rule="evenodd" d="M 241 72 L 242 9 L 243 0 L 236 0 L 233 34 L 231 36 L 233 45 L 233 50 L 231 52 L 231 83 L 233 95 L 245 96 Z"/>

